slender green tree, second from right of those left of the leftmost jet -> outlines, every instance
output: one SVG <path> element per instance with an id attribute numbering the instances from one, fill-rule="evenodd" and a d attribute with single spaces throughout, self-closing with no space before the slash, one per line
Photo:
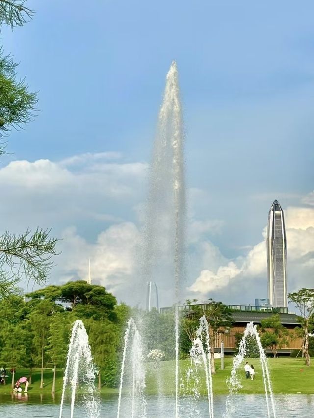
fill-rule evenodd
<path id="1" fill-rule="evenodd" d="M 46 347 L 50 335 L 50 322 L 53 312 L 53 305 L 48 300 L 41 300 L 30 314 L 31 327 L 34 333 L 34 345 L 37 352 L 37 359 L 41 363 L 40 389 L 44 387 L 44 363 Z"/>

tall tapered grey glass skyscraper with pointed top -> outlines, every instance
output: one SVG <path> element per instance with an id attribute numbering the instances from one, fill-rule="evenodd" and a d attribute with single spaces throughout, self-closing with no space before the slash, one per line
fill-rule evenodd
<path id="1" fill-rule="evenodd" d="M 266 242 L 268 299 L 272 306 L 287 308 L 286 229 L 284 211 L 277 200 L 268 214 Z"/>

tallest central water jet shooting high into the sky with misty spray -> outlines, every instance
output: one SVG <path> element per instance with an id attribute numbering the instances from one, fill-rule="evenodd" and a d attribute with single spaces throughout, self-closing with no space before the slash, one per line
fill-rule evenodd
<path id="1" fill-rule="evenodd" d="M 179 291 L 184 277 L 185 181 L 184 135 L 178 70 L 173 61 L 166 76 L 163 102 L 149 173 L 149 197 L 144 237 L 143 274 L 155 282 L 174 277 L 175 301 L 175 416 L 179 414 Z M 169 281 L 168 281 L 169 284 Z"/>

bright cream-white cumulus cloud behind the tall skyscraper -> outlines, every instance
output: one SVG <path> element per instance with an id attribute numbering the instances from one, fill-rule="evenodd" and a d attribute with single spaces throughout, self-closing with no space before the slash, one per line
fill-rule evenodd
<path id="1" fill-rule="evenodd" d="M 314 267 L 314 209 L 288 207 L 285 211 L 288 258 L 288 288 L 290 291 L 306 286 L 313 277 Z M 226 260 L 217 267 L 216 260 L 221 254 L 213 245 L 203 246 L 208 258 L 207 269 L 201 270 L 194 283 L 188 287 L 191 292 L 206 295 L 223 291 L 234 285 L 243 286 L 250 281 L 264 280 L 266 283 L 266 228 L 264 240 L 253 246 L 245 256 Z M 244 302 L 243 302 L 244 303 Z"/>

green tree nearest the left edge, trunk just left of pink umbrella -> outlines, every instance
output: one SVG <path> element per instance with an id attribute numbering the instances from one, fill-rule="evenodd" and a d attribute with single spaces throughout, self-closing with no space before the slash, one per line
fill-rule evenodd
<path id="1" fill-rule="evenodd" d="M 21 365 L 23 358 L 25 358 L 25 333 L 21 325 L 8 325 L 1 329 L 2 337 L 2 351 L 1 361 L 3 364 L 10 367 L 12 372 L 12 388 L 15 381 L 15 369 Z"/>

